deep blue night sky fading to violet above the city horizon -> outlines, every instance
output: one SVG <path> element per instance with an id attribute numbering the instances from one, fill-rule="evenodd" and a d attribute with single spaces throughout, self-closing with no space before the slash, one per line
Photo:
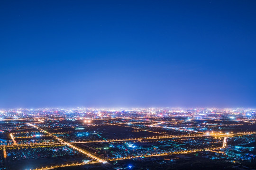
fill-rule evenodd
<path id="1" fill-rule="evenodd" d="M 1 0 L 0 107 L 256 107 L 255 0 Z"/>

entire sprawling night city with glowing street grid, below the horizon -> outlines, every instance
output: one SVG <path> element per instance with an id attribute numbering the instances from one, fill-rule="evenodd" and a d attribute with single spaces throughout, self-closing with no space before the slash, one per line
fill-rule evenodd
<path id="1" fill-rule="evenodd" d="M 0 110 L 0 170 L 247 170 L 255 147 L 256 109 Z"/>

